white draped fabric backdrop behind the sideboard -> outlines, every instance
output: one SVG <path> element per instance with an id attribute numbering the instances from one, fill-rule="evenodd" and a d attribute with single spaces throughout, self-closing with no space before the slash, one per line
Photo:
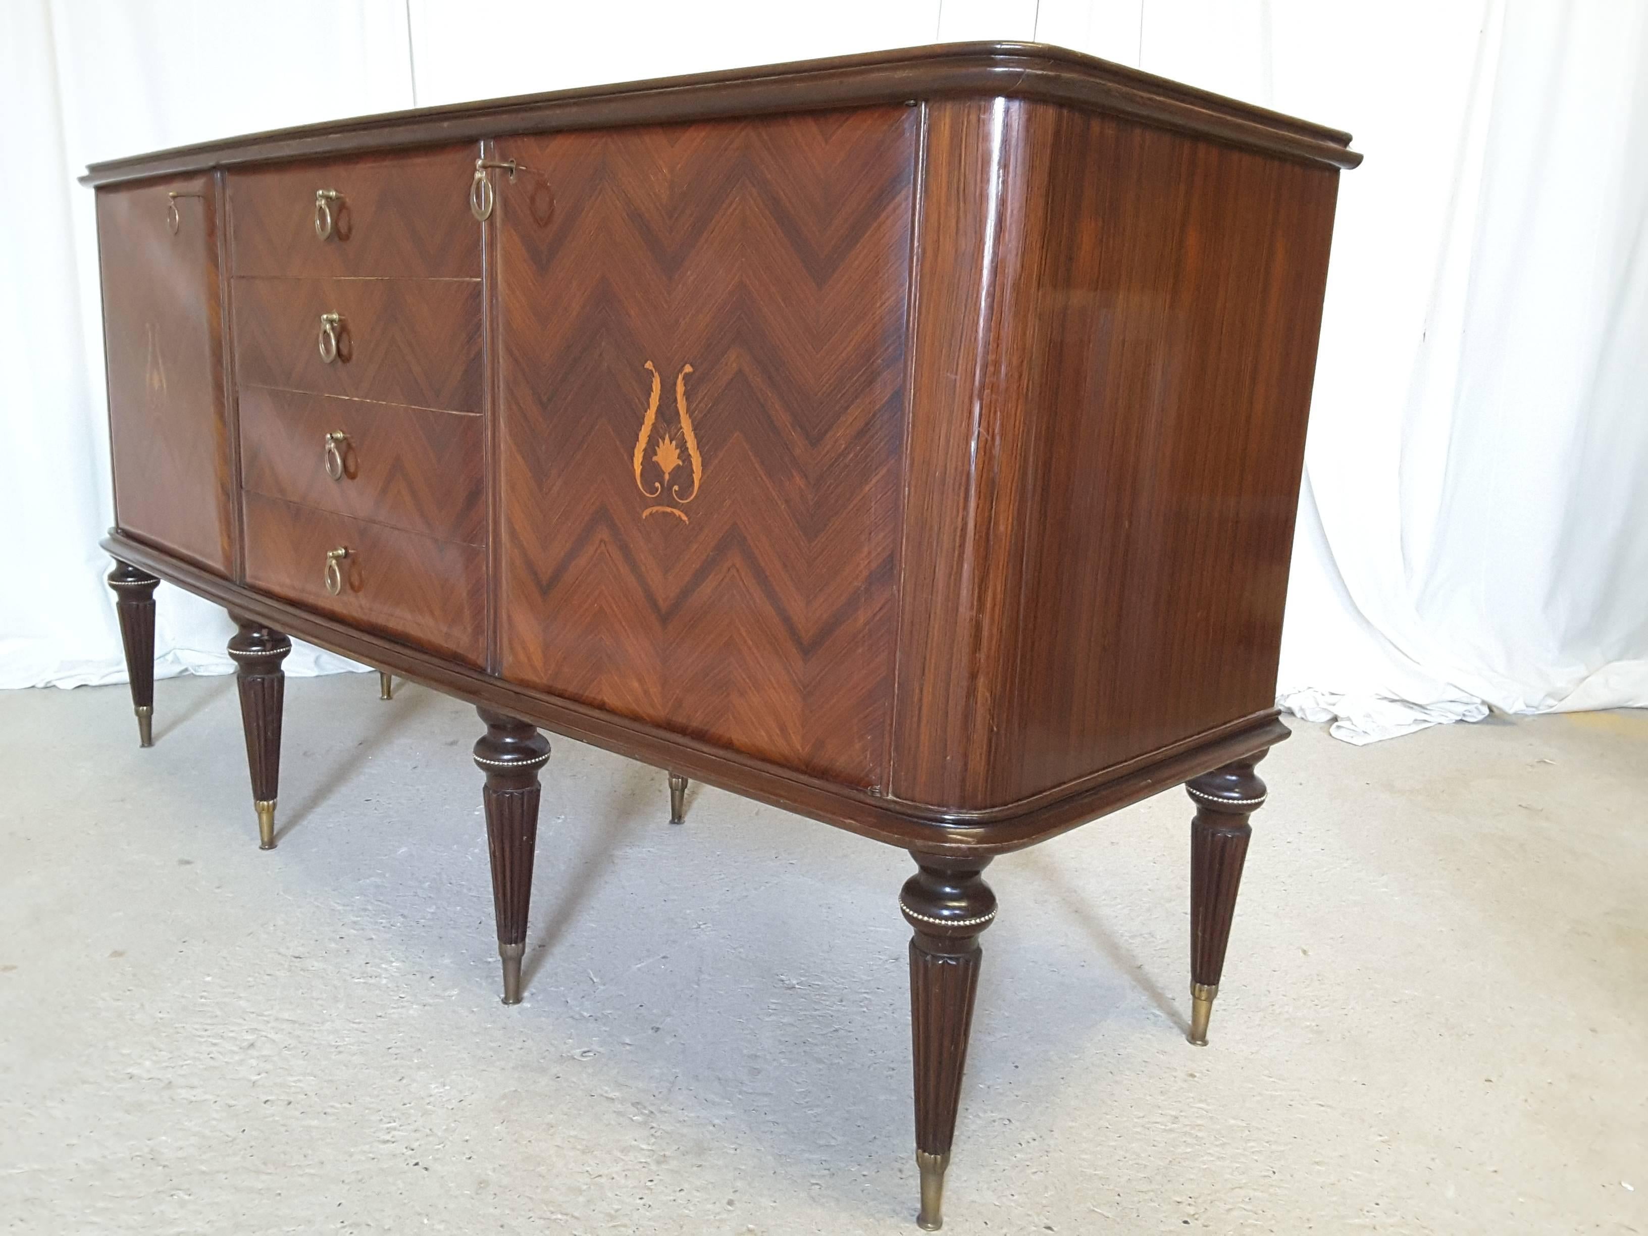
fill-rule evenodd
<path id="1" fill-rule="evenodd" d="M 1648 705 L 1638 0 L 13 0 L 0 7 L 0 686 L 119 679 L 86 162 L 283 124 L 1040 38 L 1350 129 L 1280 695 L 1368 740 Z M 316 31 L 323 31 L 318 36 Z M 160 590 L 158 672 L 227 671 Z M 313 651 L 297 672 L 341 667 Z"/>

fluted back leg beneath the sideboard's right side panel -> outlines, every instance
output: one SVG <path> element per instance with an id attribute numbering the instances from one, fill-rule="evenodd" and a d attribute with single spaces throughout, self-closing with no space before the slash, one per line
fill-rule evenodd
<path id="1" fill-rule="evenodd" d="M 1208 1045 L 1208 1018 L 1224 971 L 1224 946 L 1236 915 L 1243 860 L 1252 827 L 1248 816 L 1264 806 L 1264 781 L 1252 766 L 1266 756 L 1238 760 L 1185 786 L 1196 804 L 1190 824 L 1190 1042 Z"/>

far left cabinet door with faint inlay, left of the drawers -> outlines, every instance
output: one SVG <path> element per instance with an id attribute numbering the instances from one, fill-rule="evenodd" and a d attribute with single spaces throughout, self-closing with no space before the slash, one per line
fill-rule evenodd
<path id="1" fill-rule="evenodd" d="M 227 575 L 234 470 L 213 176 L 99 190 L 97 247 L 115 524 Z"/>

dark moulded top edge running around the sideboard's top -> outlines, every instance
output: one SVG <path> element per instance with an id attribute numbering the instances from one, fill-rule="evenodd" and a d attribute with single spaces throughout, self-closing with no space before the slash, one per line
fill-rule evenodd
<path id="1" fill-rule="evenodd" d="M 682 77 L 419 107 L 214 138 L 92 163 L 82 185 L 554 129 L 704 120 L 933 96 L 1040 99 L 1264 153 L 1353 168 L 1350 133 L 1043 43 L 939 43 Z"/>

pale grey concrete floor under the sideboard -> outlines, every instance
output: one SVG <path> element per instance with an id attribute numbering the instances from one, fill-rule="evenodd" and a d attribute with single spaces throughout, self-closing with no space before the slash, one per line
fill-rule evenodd
<path id="1" fill-rule="evenodd" d="M 903 854 L 555 740 L 498 1002 L 475 714 L 0 694 L 0 1229 L 915 1233 Z M 1648 717 L 1297 727 L 1211 1046 L 1173 791 L 992 867 L 946 1231 L 1648 1231 Z M 1633 1188 L 1635 1187 L 1635 1188 Z"/>

